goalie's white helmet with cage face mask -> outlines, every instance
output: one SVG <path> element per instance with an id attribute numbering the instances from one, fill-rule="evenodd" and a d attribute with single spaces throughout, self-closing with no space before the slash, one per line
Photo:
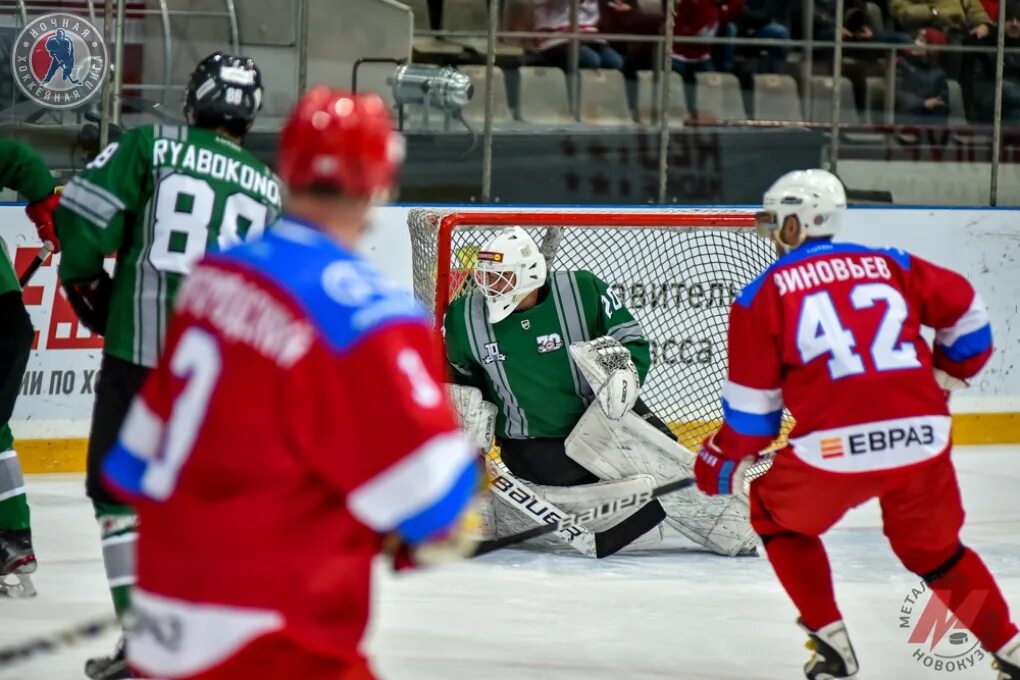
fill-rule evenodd
<path id="1" fill-rule="evenodd" d="M 546 258 L 519 226 L 504 229 L 478 251 L 474 282 L 486 296 L 490 323 L 510 316 L 527 294 L 546 283 Z"/>

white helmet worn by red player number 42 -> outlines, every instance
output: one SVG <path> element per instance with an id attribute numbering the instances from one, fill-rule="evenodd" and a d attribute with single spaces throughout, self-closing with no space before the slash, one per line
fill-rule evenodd
<path id="1" fill-rule="evenodd" d="M 832 237 L 843 226 L 847 192 L 828 170 L 794 170 L 775 180 L 765 192 L 763 210 L 755 215 L 758 233 L 784 250 L 797 248 L 805 239 Z M 783 221 L 796 215 L 801 223 L 797 243 L 779 240 Z"/>

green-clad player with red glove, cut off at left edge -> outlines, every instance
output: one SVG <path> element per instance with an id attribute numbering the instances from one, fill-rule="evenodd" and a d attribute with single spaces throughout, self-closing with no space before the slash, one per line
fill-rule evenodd
<path id="1" fill-rule="evenodd" d="M 53 230 L 53 211 L 59 197 L 53 176 L 39 154 L 20 142 L 0 140 L 0 187 L 13 189 L 29 200 L 26 212 L 35 222 L 39 238 L 59 251 L 60 242 Z M 0 594 L 10 596 L 35 592 L 28 576 L 36 571 L 29 503 L 7 422 L 21 388 L 32 337 L 21 286 L 0 239 Z M 7 576 L 18 582 L 6 583 Z"/>

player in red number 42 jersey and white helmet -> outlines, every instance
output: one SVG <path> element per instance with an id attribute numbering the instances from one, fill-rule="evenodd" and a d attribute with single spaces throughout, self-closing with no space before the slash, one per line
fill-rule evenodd
<path id="1" fill-rule="evenodd" d="M 706 493 L 744 488 L 744 471 L 797 421 L 751 485 L 751 523 L 800 611 L 815 653 L 808 678 L 856 678 L 820 540 L 869 499 L 894 552 L 1020 679 L 1020 635 L 981 559 L 960 542 L 947 388 L 991 354 L 991 329 L 966 278 L 900 250 L 832 243 L 847 199 L 824 170 L 796 171 L 765 194 L 759 232 L 779 259 L 730 311 L 724 422 L 695 466 Z M 921 326 L 935 329 L 934 348 Z M 973 607 L 977 593 L 979 607 Z"/>

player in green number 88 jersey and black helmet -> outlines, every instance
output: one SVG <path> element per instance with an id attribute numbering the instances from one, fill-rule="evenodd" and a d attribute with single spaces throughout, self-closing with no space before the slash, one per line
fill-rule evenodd
<path id="1" fill-rule="evenodd" d="M 103 458 L 163 350 L 185 275 L 206 251 L 257 237 L 279 211 L 275 176 L 241 147 L 261 102 L 254 61 L 220 52 L 206 57 L 185 94 L 188 126 L 128 132 L 68 182 L 56 213 L 67 298 L 104 337 L 86 487 L 118 614 L 135 581 L 136 520 L 105 488 Z M 114 254 L 111 278 L 103 262 Z M 126 673 L 122 653 L 86 667 L 92 678 Z"/>

